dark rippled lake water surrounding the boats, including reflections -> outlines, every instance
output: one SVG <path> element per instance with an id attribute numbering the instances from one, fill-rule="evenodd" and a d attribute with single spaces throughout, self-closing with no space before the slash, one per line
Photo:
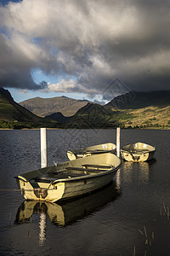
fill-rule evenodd
<path id="1" fill-rule="evenodd" d="M 116 143 L 116 130 L 48 130 L 48 165 L 66 151 Z M 121 143 L 156 146 L 155 159 L 123 162 L 111 185 L 63 205 L 0 190 L 0 255 L 169 255 L 170 131 L 122 130 Z M 40 167 L 40 131 L 0 131 L 0 189 Z"/>

